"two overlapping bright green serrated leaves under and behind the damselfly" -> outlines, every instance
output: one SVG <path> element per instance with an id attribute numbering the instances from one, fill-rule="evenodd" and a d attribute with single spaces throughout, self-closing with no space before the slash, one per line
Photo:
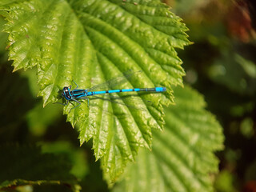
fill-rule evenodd
<path id="1" fill-rule="evenodd" d="M 166 94 L 139 95 L 143 100 L 137 105 L 152 103 L 146 111 L 101 99 L 90 101 L 90 107 L 87 102 L 74 110 L 72 104 L 64 107 L 67 121 L 79 131 L 80 145 L 93 138 L 94 156 L 101 159 L 109 186 L 125 172 L 114 190 L 213 190 L 208 174 L 218 170 L 213 151 L 222 149 L 222 130 L 203 110 L 199 94 L 176 87 L 183 86 L 185 73 L 174 48 L 190 42 L 186 26 L 168 6 L 158 0 L 6 0 L 0 2 L 0 14 L 7 20 L 14 70 L 36 67 L 44 106 L 57 102 L 59 90 L 72 80 L 90 87 L 130 69 L 143 73 L 126 87 L 166 86 Z M 170 106 L 175 100 L 177 106 Z M 169 106 L 166 126 L 164 106 Z M 136 158 L 137 166 L 124 171 Z M 145 166 L 140 161 L 147 158 Z M 135 184 L 135 176 L 146 170 L 151 174 L 144 174 L 142 182 L 149 188 Z"/>

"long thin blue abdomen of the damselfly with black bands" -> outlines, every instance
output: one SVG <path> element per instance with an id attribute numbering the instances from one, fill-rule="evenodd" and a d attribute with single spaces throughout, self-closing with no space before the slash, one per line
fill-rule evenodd
<path id="1" fill-rule="evenodd" d="M 91 91 L 87 92 L 87 96 L 91 96 L 94 94 L 112 94 L 112 93 L 120 93 L 120 92 L 138 92 L 138 91 L 148 91 L 148 92 L 164 92 L 166 91 L 166 87 L 154 87 L 154 88 L 134 88 L 134 89 L 122 89 L 122 90 L 102 90 L 102 91 Z"/>

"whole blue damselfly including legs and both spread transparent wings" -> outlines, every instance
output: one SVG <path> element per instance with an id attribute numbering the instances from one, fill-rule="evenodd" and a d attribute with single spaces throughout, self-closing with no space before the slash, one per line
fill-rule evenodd
<path id="1" fill-rule="evenodd" d="M 118 85 L 121 85 L 124 82 L 127 82 L 129 78 L 134 77 L 134 75 L 139 75 L 141 74 L 142 71 L 137 71 L 135 73 L 132 73 L 132 70 L 129 70 L 122 76 L 118 76 L 116 78 L 110 79 L 102 84 L 96 85 L 91 87 L 90 89 L 78 89 L 78 84 L 74 82 L 75 88 L 71 90 L 72 86 L 64 86 L 62 90 L 62 97 L 66 98 L 67 102 L 66 104 L 62 104 L 66 106 L 69 101 L 74 101 L 78 102 L 77 106 L 74 106 L 70 110 L 74 110 L 74 108 L 78 107 L 81 105 L 81 102 L 78 100 L 80 99 L 86 99 L 88 106 L 89 106 L 89 97 L 90 98 L 101 98 L 106 101 L 126 105 L 126 106 L 135 106 L 132 108 L 135 109 L 140 109 L 140 108 L 145 108 L 146 109 L 146 104 L 149 103 L 149 101 L 143 100 L 140 98 L 137 94 L 135 95 L 130 95 L 127 93 L 126 97 L 122 97 L 122 94 L 119 95 L 119 93 L 124 93 L 124 92 L 144 92 L 145 94 L 149 93 L 159 93 L 159 92 L 164 92 L 166 91 L 166 87 L 150 87 L 150 88 L 126 88 L 126 89 L 116 89 L 115 87 Z M 103 96 L 103 94 L 106 95 Z M 110 94 L 117 94 L 116 96 L 112 97 Z M 98 96 L 96 96 L 98 95 Z M 101 95 L 101 96 L 100 96 Z M 138 99 L 139 98 L 139 99 Z M 122 102 L 121 102 L 122 100 Z M 74 105 L 74 102 L 72 105 Z"/>

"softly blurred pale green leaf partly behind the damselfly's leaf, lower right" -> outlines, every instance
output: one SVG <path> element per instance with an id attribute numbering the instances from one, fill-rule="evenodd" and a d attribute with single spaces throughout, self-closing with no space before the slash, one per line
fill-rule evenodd
<path id="1" fill-rule="evenodd" d="M 223 148 L 222 127 L 196 91 L 177 87 L 174 93 L 177 105 L 166 110 L 163 133 L 154 131 L 152 152 L 139 150 L 115 192 L 214 191 L 210 174 L 218 172 L 213 152 Z"/>

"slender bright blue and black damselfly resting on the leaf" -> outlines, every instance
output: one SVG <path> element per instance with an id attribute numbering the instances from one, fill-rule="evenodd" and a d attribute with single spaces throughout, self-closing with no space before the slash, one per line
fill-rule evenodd
<path id="1" fill-rule="evenodd" d="M 130 88 L 130 89 L 121 89 L 121 90 L 102 90 L 102 89 L 108 89 L 113 86 L 117 86 L 123 82 L 126 82 L 128 78 L 133 76 L 134 74 L 141 73 L 141 71 L 135 72 L 135 73 L 126 73 L 122 76 L 119 76 L 117 78 L 112 78 L 107 82 L 103 82 L 102 84 L 99 84 L 97 86 L 93 86 L 90 89 L 78 89 L 78 84 L 74 82 L 76 85 L 76 88 L 72 90 L 72 86 L 64 86 L 62 90 L 62 97 L 66 99 L 66 104 L 70 101 L 78 102 L 77 106 L 74 106 L 71 110 L 73 110 L 75 107 L 78 107 L 81 105 L 81 102 L 79 102 L 79 99 L 86 99 L 88 101 L 89 106 L 89 98 L 91 96 L 95 96 L 98 94 L 113 94 L 113 93 L 121 93 L 121 92 L 164 92 L 166 91 L 166 87 L 154 87 L 154 88 Z M 98 91 L 96 91 L 98 90 Z"/>

